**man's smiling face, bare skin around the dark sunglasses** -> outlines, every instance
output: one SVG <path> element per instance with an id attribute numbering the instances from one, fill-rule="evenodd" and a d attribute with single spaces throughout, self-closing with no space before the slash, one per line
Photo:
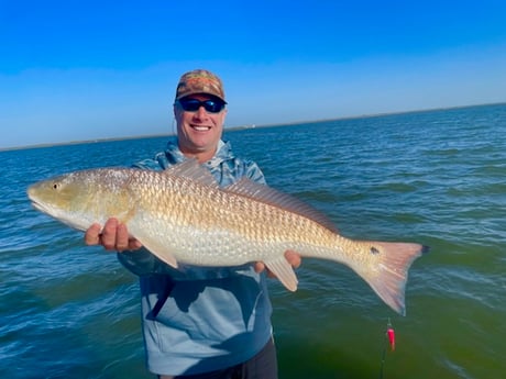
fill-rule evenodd
<path id="1" fill-rule="evenodd" d="M 206 101 L 216 100 L 216 98 L 198 93 L 182 99 L 182 101 L 184 100 Z M 196 111 L 185 111 L 176 102 L 174 115 L 182 153 L 196 157 L 200 163 L 211 159 L 223 132 L 227 110 L 223 108 L 220 112 L 212 113 L 208 112 L 204 107 L 199 107 Z"/>

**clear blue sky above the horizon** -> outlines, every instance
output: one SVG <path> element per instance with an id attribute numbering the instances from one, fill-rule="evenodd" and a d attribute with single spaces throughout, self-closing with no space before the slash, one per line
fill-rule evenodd
<path id="1" fill-rule="evenodd" d="M 226 126 L 506 102 L 506 2 L 0 0 L 1 147 L 170 133 L 179 76 Z"/>

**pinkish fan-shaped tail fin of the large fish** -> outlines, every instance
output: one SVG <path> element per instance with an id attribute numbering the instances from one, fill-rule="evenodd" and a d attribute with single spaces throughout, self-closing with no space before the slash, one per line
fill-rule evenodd
<path id="1" fill-rule="evenodd" d="M 406 315 L 405 288 L 408 269 L 429 248 L 409 243 L 364 243 L 369 245 L 370 254 L 377 257 L 375 267 L 372 270 L 367 265 L 356 265 L 353 268 L 386 304 L 400 315 Z"/>

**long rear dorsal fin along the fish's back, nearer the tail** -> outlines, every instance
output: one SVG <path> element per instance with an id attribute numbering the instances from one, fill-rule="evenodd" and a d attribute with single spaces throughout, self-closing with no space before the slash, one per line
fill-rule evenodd
<path id="1" fill-rule="evenodd" d="M 324 214 L 304 201 L 300 201 L 290 194 L 279 192 L 272 187 L 260 185 L 248 178 L 241 178 L 233 185 L 226 187 L 224 191 L 246 197 L 276 208 L 283 208 L 288 212 L 312 220 L 328 230 L 338 233 L 336 225 Z"/>

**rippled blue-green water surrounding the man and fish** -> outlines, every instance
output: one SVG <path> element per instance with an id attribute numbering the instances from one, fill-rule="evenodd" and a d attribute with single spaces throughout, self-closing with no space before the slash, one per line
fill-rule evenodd
<path id="1" fill-rule="evenodd" d="M 506 372 L 506 105 L 227 132 L 271 186 L 350 237 L 431 247 L 407 316 L 350 269 L 306 259 L 271 281 L 280 378 L 501 378 Z M 165 138 L 0 153 L 0 377 L 153 378 L 136 278 L 31 209 L 29 183 L 151 157 Z M 396 350 L 387 350 L 388 320 Z"/>

